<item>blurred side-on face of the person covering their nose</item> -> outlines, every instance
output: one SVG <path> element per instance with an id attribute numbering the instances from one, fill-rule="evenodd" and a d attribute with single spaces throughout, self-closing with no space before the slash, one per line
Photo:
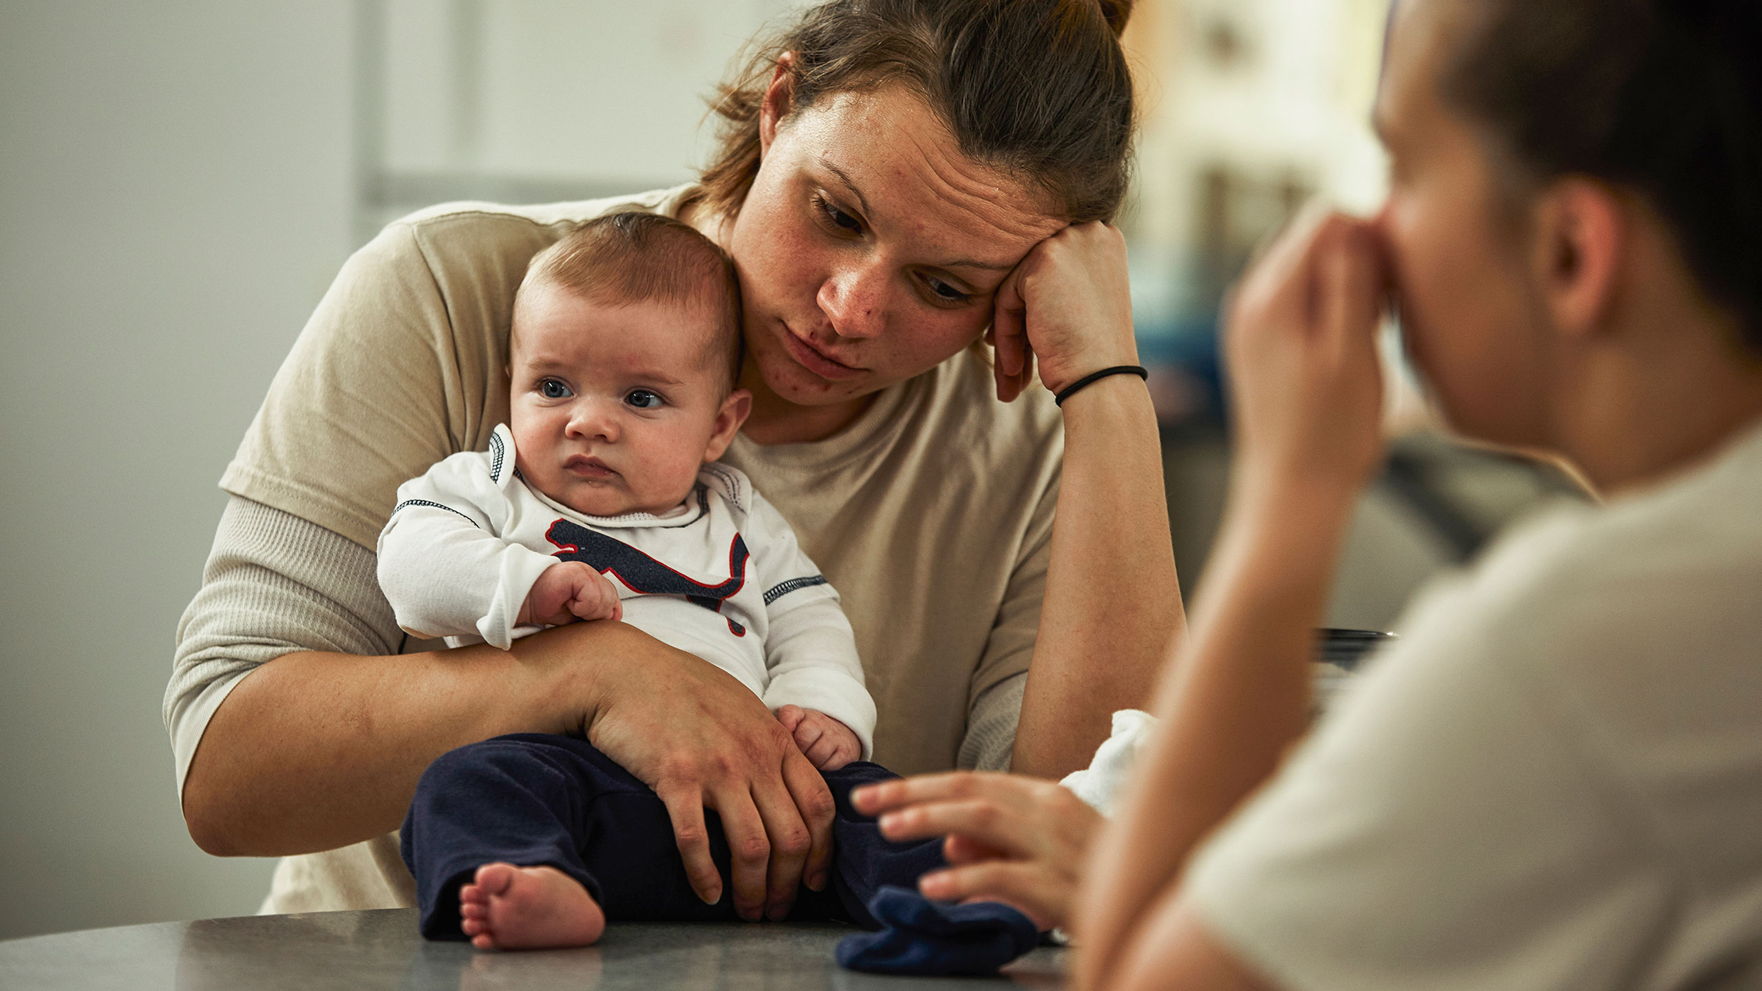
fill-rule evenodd
<path id="1" fill-rule="evenodd" d="M 1408 354 L 1450 425 L 1542 444 L 1542 310 L 1524 222 L 1478 130 L 1438 95 L 1461 0 L 1404 0 L 1376 102 L 1388 146 L 1388 243 Z"/>

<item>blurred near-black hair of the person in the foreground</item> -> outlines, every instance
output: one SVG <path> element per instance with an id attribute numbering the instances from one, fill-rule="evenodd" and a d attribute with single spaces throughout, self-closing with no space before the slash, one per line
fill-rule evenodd
<path id="1" fill-rule="evenodd" d="M 1639 192 L 1762 354 L 1762 2 L 1454 2 L 1445 104 L 1528 178 Z"/>

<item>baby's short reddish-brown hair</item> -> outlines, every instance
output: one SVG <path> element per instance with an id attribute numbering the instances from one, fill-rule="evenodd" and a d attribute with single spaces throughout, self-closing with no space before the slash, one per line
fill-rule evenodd
<path id="1" fill-rule="evenodd" d="M 691 224 L 636 210 L 587 220 L 532 256 L 522 289 L 553 282 L 590 303 L 680 303 L 708 307 L 715 337 L 705 361 L 724 360 L 728 384 L 740 381 L 740 280 L 735 263 Z"/>

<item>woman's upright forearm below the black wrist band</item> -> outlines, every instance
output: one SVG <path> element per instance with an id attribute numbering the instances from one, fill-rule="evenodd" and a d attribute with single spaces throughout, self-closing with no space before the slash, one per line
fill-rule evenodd
<path id="1" fill-rule="evenodd" d="M 1182 630 L 1156 411 L 1133 376 L 1064 402 L 1064 464 L 1011 771 L 1089 765 L 1117 709 L 1147 704 Z"/>

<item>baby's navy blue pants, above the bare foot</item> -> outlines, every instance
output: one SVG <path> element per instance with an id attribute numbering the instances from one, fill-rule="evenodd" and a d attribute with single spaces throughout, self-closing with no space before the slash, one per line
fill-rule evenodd
<path id="1" fill-rule="evenodd" d="M 867 762 L 825 774 L 837 802 L 826 890 L 802 889 L 789 919 L 879 928 L 865 905 L 881 885 L 916 887 L 941 868 L 939 839 L 888 843 L 876 820 L 851 808 L 851 788 L 897 778 Z M 458 889 L 479 866 L 548 864 L 581 882 L 613 922 L 737 920 L 728 838 L 705 809 L 722 899 L 691 889 L 661 797 L 580 737 L 515 734 L 462 746 L 423 772 L 403 818 L 403 862 L 416 875 L 421 931 L 463 940 Z"/>

